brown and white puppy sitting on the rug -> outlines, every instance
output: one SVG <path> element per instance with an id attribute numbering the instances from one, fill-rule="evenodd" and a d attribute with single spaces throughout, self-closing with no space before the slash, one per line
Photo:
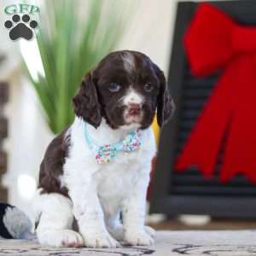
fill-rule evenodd
<path id="1" fill-rule="evenodd" d="M 155 154 L 150 125 L 156 109 L 161 126 L 174 107 L 164 74 L 142 53 L 113 52 L 84 76 L 73 107 L 73 124 L 49 144 L 40 166 L 38 241 L 152 244 L 153 230 L 144 226 Z"/>

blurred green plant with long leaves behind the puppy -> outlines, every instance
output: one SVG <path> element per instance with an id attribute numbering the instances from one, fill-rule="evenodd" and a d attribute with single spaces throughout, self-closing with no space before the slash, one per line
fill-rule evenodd
<path id="1" fill-rule="evenodd" d="M 86 15 L 81 15 L 84 2 Z M 125 0 L 44 1 L 37 35 L 44 75 L 34 79 L 27 67 L 27 76 L 53 133 L 73 122 L 72 98 L 82 76 L 117 47 L 131 18 L 130 6 Z"/>

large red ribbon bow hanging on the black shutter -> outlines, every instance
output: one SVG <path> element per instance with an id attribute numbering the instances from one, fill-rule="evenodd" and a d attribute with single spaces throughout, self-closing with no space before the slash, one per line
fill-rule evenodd
<path id="1" fill-rule="evenodd" d="M 177 171 L 197 166 L 212 177 L 225 137 L 221 181 L 243 173 L 256 183 L 256 27 L 240 26 L 203 3 L 184 44 L 196 76 L 220 68 L 222 74 L 177 159 Z"/>

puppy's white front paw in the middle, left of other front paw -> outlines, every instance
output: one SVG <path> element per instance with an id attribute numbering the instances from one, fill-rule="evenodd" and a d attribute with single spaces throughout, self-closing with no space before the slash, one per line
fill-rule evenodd
<path id="1" fill-rule="evenodd" d="M 86 247 L 120 247 L 119 242 L 114 240 L 108 232 L 84 234 L 83 237 Z"/>

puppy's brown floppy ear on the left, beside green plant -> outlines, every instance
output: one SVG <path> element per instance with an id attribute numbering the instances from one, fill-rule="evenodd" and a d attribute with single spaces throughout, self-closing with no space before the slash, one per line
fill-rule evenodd
<path id="1" fill-rule="evenodd" d="M 78 117 L 95 128 L 101 124 L 101 105 L 98 102 L 96 83 L 93 81 L 91 73 L 84 76 L 79 92 L 73 97 L 73 108 Z"/>

